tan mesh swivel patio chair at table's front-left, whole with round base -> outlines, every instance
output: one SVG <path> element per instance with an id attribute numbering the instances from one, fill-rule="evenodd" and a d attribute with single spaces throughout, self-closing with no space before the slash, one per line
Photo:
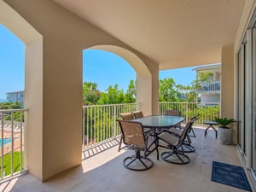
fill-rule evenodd
<path id="1" fill-rule="evenodd" d="M 154 162 L 147 157 L 147 142 L 143 132 L 143 125 L 139 122 L 118 120 L 122 131 L 123 143 L 135 151 L 135 155 L 125 158 L 123 165 L 133 171 L 150 169 Z M 143 152 L 143 155 L 141 155 Z"/>

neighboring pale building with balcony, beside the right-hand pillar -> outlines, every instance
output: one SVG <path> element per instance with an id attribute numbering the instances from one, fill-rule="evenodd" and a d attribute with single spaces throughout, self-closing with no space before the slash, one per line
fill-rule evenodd
<path id="1" fill-rule="evenodd" d="M 201 102 L 220 102 L 221 64 L 196 67 L 193 70 L 196 71 L 196 74 L 199 72 L 212 72 L 210 82 L 201 82 L 201 89 L 197 90 L 201 97 Z"/>

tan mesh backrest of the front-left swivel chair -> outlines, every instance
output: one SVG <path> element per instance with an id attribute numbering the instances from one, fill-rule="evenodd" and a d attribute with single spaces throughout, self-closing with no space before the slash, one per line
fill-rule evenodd
<path id="1" fill-rule="evenodd" d="M 119 120 L 123 142 L 133 147 L 145 148 L 143 125 L 139 122 Z"/>

